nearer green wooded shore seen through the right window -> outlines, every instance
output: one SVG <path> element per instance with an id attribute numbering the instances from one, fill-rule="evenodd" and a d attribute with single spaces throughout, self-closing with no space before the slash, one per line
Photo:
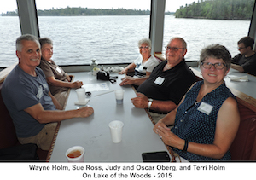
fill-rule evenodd
<path id="1" fill-rule="evenodd" d="M 177 18 L 206 18 L 214 20 L 251 20 L 254 0 L 198 0 L 181 6 Z"/>

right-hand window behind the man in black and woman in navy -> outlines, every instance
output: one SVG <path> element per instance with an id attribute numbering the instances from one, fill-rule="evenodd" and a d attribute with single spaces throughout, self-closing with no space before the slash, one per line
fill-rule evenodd
<path id="1" fill-rule="evenodd" d="M 166 10 L 169 10 L 171 12 L 176 12 L 177 9 L 182 9 L 181 14 L 184 15 L 187 13 L 189 18 L 175 18 L 175 15 L 166 15 L 165 16 L 165 30 L 164 30 L 164 43 L 163 46 L 165 46 L 169 39 L 172 37 L 181 37 L 184 38 L 185 41 L 188 44 L 188 53 L 185 56 L 186 61 L 198 61 L 199 55 L 201 53 L 201 49 L 206 47 L 210 44 L 223 44 L 227 49 L 230 50 L 230 53 L 232 56 L 239 53 L 237 50 L 237 41 L 241 39 L 242 37 L 245 37 L 248 35 L 248 30 L 250 26 L 250 20 L 247 20 L 247 18 L 250 18 L 253 12 L 252 9 L 247 9 L 245 4 L 243 2 L 249 3 L 251 2 L 252 5 L 250 7 L 253 7 L 254 1 L 248 0 L 248 1 L 224 1 L 224 0 L 215 0 L 215 1 L 196 1 L 198 3 L 195 3 L 194 0 L 187 0 L 187 1 L 180 1 L 179 7 L 176 7 L 176 9 L 169 9 L 169 7 L 172 7 L 173 1 L 166 1 Z M 183 3 L 185 2 L 185 3 Z M 240 20 L 213 20 L 209 19 L 210 14 L 216 9 L 211 9 L 210 7 L 214 7 L 214 5 L 211 5 L 213 2 L 218 3 L 218 15 L 222 15 L 222 12 L 224 12 L 223 9 L 224 6 L 229 7 L 230 9 L 233 9 L 233 12 L 230 10 L 230 14 L 233 13 L 234 18 L 239 19 L 237 17 L 238 12 L 236 12 L 236 9 L 247 9 L 247 18 L 240 18 Z M 240 5 L 237 5 L 237 2 L 240 2 Z M 201 9 L 205 10 L 208 14 L 207 18 L 204 19 L 204 17 L 200 17 L 200 11 L 199 9 L 200 4 Z M 236 3 L 236 7 L 235 4 Z M 182 7 L 182 8 L 180 8 Z M 223 7 L 223 9 L 219 8 Z M 187 9 L 186 9 L 187 8 Z M 208 9 L 207 9 L 208 8 Z M 193 11 L 194 9 L 194 11 Z M 195 12 L 198 14 L 196 16 Z M 189 14 L 190 13 L 190 14 Z M 204 14 L 204 15 L 207 15 Z M 228 14 L 228 11 L 227 11 Z M 191 16 L 195 16 L 195 18 L 191 18 Z M 236 17 L 235 17 L 236 15 Z M 221 19 L 221 17 L 216 17 L 217 19 Z M 223 19 L 228 19 L 227 17 L 223 17 Z M 165 53 L 165 50 L 163 48 L 163 52 Z"/>

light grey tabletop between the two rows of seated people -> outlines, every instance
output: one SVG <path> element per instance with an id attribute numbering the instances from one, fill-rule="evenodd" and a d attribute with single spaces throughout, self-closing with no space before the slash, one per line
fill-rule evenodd
<path id="1" fill-rule="evenodd" d="M 121 87 L 119 76 L 116 84 L 96 80 L 89 73 L 73 73 L 74 80 L 85 84 L 107 83 L 109 90 L 92 91 L 88 105 L 94 108 L 94 114 L 88 118 L 67 119 L 61 121 L 60 130 L 54 143 L 50 162 L 67 162 L 65 153 L 72 146 L 85 149 L 84 162 L 143 162 L 145 152 L 167 151 L 165 144 L 153 131 L 153 123 L 144 109 L 133 106 L 131 98 L 136 94 L 131 86 Z M 124 103 L 117 105 L 114 92 L 96 96 L 111 90 L 125 90 Z M 75 109 L 78 98 L 71 90 L 66 110 Z M 122 141 L 115 144 L 111 140 L 108 123 L 119 119 L 124 122 Z M 169 152 L 168 152 L 169 154 Z M 172 157 L 170 155 L 172 160 Z"/>

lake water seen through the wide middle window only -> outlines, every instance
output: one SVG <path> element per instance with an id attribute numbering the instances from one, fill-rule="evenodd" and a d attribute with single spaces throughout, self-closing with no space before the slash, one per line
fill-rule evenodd
<path id="1" fill-rule="evenodd" d="M 149 15 L 39 16 L 38 23 L 61 65 L 131 62 L 139 55 L 138 40 L 149 37 Z"/>

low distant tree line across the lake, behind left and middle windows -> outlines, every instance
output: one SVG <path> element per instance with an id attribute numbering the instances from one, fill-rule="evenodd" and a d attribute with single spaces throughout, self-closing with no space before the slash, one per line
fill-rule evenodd
<path id="1" fill-rule="evenodd" d="M 2 15 L 18 15 L 18 12 L 12 11 Z M 38 10 L 39 15 L 150 15 L 150 10 L 141 9 L 88 9 L 88 8 L 70 8 Z"/>

